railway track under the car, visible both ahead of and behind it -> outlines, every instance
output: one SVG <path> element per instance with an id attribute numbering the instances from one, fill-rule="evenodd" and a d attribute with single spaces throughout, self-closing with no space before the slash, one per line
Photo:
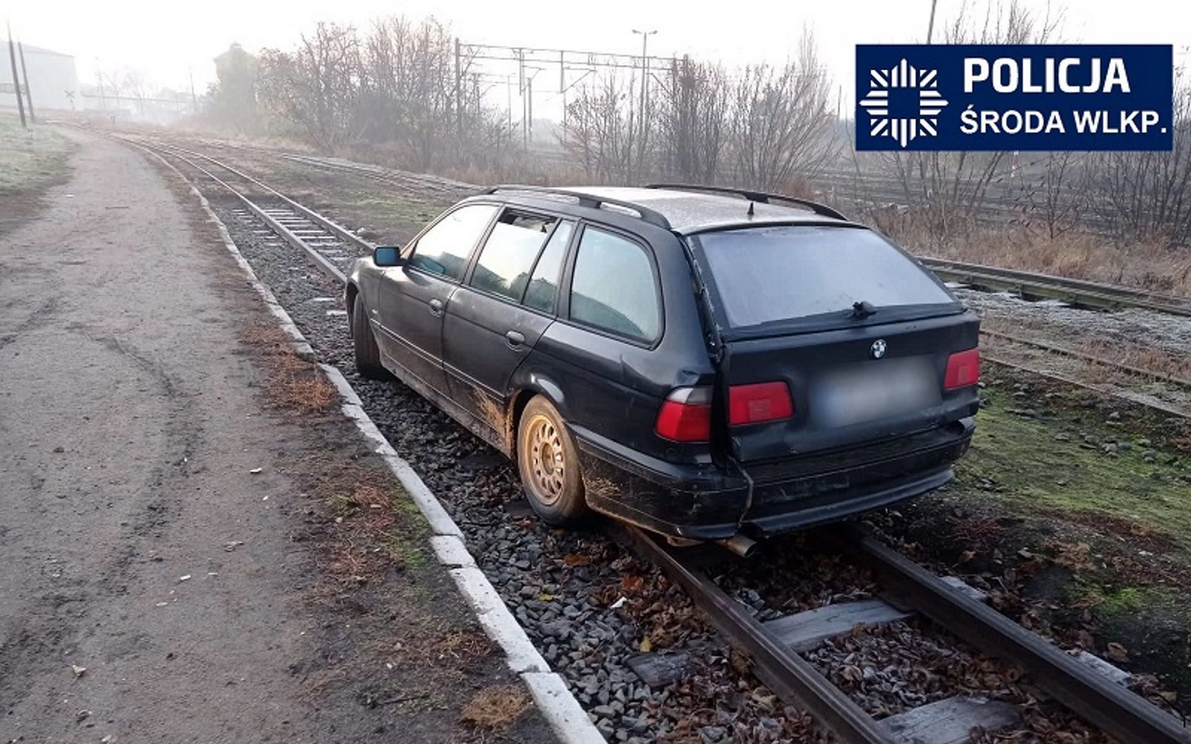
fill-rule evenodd
<path id="1" fill-rule="evenodd" d="M 301 250 L 329 277 L 343 281 L 341 267 L 372 245 L 322 214 L 288 199 L 238 169 L 182 148 L 133 143 L 166 162 L 179 162 L 211 187 L 226 190 L 239 205 L 238 218 L 254 232 L 274 233 L 279 246 Z M 208 168 L 210 165 L 210 168 Z M 212 173 L 220 169 L 223 177 Z M 180 171 L 181 173 L 181 171 Z M 954 583 L 930 574 L 858 529 L 838 529 L 834 539 L 849 556 L 868 563 L 888 592 L 888 601 L 829 605 L 766 623 L 721 589 L 698 565 L 696 552 L 661 544 L 629 530 L 634 544 L 682 586 L 712 625 L 744 651 L 757 676 L 784 700 L 812 713 L 844 742 L 962 742 L 973 727 L 994 731 L 1021 717 L 1012 704 L 955 696 L 881 721 L 835 687 L 796 649 L 807 638 L 850 632 L 856 623 L 898 621 L 918 614 L 991 656 L 1021 665 L 1034 684 L 1105 733 L 1124 742 L 1191 742 L 1170 714 L 1104 675 L 1087 657 L 1070 656 L 984 605 Z M 810 615 L 810 617 L 809 617 Z M 1103 662 L 1100 662 L 1103 664 Z"/>

